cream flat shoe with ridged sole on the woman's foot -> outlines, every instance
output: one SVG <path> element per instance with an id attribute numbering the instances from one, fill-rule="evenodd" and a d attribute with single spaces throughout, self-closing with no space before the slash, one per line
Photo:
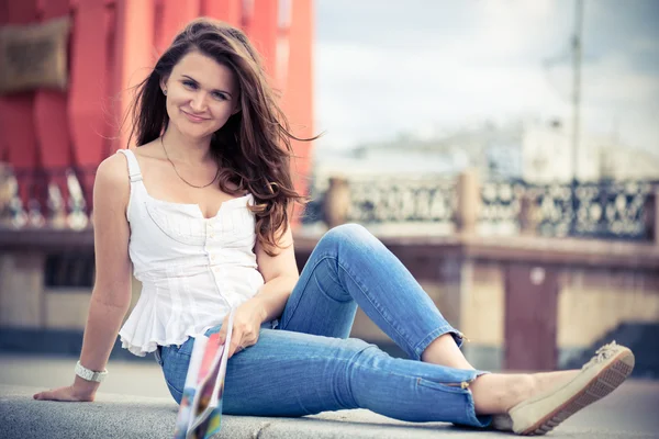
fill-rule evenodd
<path id="1" fill-rule="evenodd" d="M 608 395 L 634 369 L 634 353 L 615 341 L 597 349 L 571 381 L 496 415 L 493 428 L 517 435 L 545 435 L 589 404 Z"/>

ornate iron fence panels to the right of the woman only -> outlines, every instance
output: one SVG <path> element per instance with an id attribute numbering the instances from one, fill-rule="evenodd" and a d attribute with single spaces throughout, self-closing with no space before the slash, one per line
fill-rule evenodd
<path id="1" fill-rule="evenodd" d="M 347 222 L 453 223 L 456 219 L 455 179 L 348 180 Z M 528 184 L 492 180 L 480 185 L 479 227 L 484 233 L 534 233 L 551 237 L 647 240 L 648 201 L 659 181 L 603 181 Z M 327 189 L 312 191 L 303 224 L 324 217 Z M 524 212 L 523 212 L 524 211 Z M 527 225 L 524 224 L 527 223 Z"/>

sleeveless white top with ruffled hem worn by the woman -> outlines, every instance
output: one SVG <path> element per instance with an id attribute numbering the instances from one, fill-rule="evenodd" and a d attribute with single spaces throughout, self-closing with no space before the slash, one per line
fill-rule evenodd
<path id="1" fill-rule="evenodd" d="M 199 205 L 152 198 L 135 155 L 129 162 L 129 252 L 142 294 L 121 328 L 122 347 L 144 357 L 157 346 L 181 345 L 220 325 L 228 311 L 256 295 L 254 196 L 225 201 L 212 218 Z"/>

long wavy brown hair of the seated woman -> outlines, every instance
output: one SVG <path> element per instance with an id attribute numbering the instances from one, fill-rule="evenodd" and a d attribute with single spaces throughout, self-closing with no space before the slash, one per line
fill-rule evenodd
<path id="1" fill-rule="evenodd" d="M 160 79 L 188 53 L 200 52 L 231 68 L 237 79 L 241 111 L 232 115 L 211 139 L 211 154 L 220 167 L 220 189 L 232 195 L 249 191 L 255 205 L 258 241 L 270 256 L 288 228 L 289 207 L 306 199 L 293 188 L 288 121 L 268 85 L 260 56 L 247 36 L 226 23 L 202 18 L 190 22 L 160 56 L 153 71 L 137 86 L 130 138 L 137 146 L 158 138 L 167 128 L 165 95 Z M 129 140 L 130 142 L 130 140 Z M 235 184 L 231 189 L 227 183 Z M 279 232 L 279 233 L 278 233 Z M 276 236 L 277 234 L 277 236 Z"/>

